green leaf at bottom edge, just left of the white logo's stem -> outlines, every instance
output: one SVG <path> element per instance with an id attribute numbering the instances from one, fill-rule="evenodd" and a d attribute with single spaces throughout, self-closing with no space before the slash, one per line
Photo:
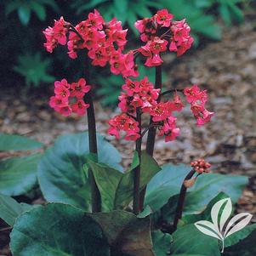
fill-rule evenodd
<path id="1" fill-rule="evenodd" d="M 204 235 L 193 224 L 179 228 L 173 234 L 171 255 L 202 254 L 204 256 L 220 256 L 217 239 Z"/>

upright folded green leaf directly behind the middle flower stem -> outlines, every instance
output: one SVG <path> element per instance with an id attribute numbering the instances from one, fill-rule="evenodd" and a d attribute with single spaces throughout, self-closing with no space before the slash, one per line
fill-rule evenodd
<path id="1" fill-rule="evenodd" d="M 134 168 L 139 164 L 138 155 L 134 155 L 134 160 L 131 168 L 122 176 L 116 193 L 115 208 L 122 208 L 128 205 L 133 199 L 133 188 L 134 188 Z M 141 166 L 140 166 L 140 191 L 145 188 L 145 185 L 151 180 L 151 178 L 161 170 L 157 162 L 146 154 L 142 152 L 141 156 Z"/>

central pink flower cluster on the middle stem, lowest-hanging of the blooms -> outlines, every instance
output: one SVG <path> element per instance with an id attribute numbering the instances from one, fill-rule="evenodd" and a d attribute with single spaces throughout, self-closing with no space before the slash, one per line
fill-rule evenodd
<path id="1" fill-rule="evenodd" d="M 165 136 L 165 140 L 174 140 L 179 135 L 179 128 L 176 128 L 176 117 L 172 116 L 173 111 L 181 111 L 184 106 L 178 95 L 174 100 L 157 103 L 159 89 L 145 77 L 140 81 L 126 79 L 122 85 L 124 92 L 119 96 L 119 108 L 121 115 L 113 117 L 109 124 L 108 133 L 120 138 L 120 131 L 127 132 L 125 139 L 136 140 L 139 138 L 138 122 L 135 119 L 135 111 L 140 108 L 142 113 L 149 113 L 159 129 L 159 135 Z M 124 121 L 125 119 L 125 121 Z M 132 123 L 132 125 L 130 125 Z"/>

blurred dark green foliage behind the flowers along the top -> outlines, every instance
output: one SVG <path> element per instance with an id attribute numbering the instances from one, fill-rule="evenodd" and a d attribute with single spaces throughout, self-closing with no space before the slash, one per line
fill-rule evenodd
<path id="1" fill-rule="evenodd" d="M 43 48 L 44 38 L 40 31 L 51 26 L 53 20 L 58 19 L 60 15 L 76 24 L 92 9 L 99 9 L 105 20 L 111 20 L 113 16 L 122 20 L 124 26 L 130 28 L 128 38 L 133 44 L 139 45 L 134 21 L 151 16 L 157 9 L 167 8 L 174 14 L 175 19 L 186 18 L 196 39 L 195 46 L 198 46 L 199 43 L 203 44 L 209 39 L 219 40 L 222 32 L 221 24 L 232 26 L 242 22 L 243 9 L 249 8 L 249 4 L 249 0 L 141 0 L 139 3 L 134 0 L 2 1 L 0 32 L 4 37 L 1 42 L 0 65 L 3 71 L 3 84 L 21 88 L 43 87 L 54 78 L 69 77 L 75 80 L 82 76 L 84 68 L 82 58 L 69 60 L 63 53 L 64 48 L 56 49 L 49 57 Z M 151 70 L 142 73 L 150 75 Z M 154 80 L 154 76 L 149 77 Z M 98 92 L 99 96 L 111 95 L 103 98 L 103 105 L 116 103 L 122 77 L 111 76 L 109 72 L 95 67 L 91 69 L 90 80 L 99 88 L 102 87 Z M 112 94 L 113 87 L 116 94 Z"/>

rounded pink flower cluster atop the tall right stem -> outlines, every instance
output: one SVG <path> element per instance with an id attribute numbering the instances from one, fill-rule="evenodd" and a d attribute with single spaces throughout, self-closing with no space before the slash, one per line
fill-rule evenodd
<path id="1" fill-rule="evenodd" d="M 191 48 L 194 40 L 190 36 L 190 26 L 185 20 L 173 21 L 173 18 L 174 15 L 169 14 L 167 9 L 162 9 L 151 18 L 135 22 L 134 26 L 141 33 L 140 39 L 146 42 L 145 46 L 138 49 L 147 58 L 145 65 L 162 65 L 160 54 L 167 48 L 177 52 L 178 56 Z"/>

